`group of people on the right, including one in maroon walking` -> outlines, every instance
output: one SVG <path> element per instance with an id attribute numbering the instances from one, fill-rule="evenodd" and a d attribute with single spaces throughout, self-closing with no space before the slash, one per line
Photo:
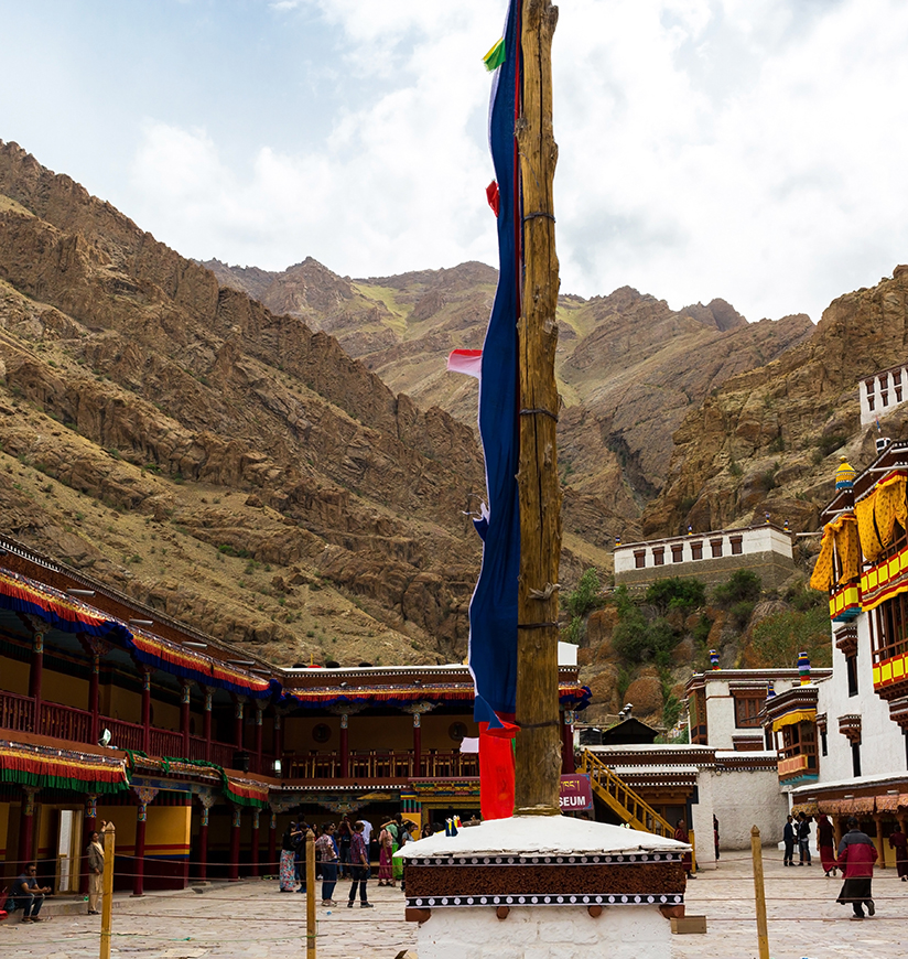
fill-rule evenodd
<path id="1" fill-rule="evenodd" d="M 789 816 L 785 825 L 782 840 L 785 842 L 783 865 L 796 865 L 794 845 L 797 843 L 800 861 L 797 865 L 812 865 L 810 856 L 810 821 L 811 817 L 799 812 L 798 817 Z M 861 823 L 851 817 L 847 821 L 848 831 L 842 837 L 839 849 L 835 848 L 835 830 L 829 817 L 821 812 L 817 817 L 817 848 L 820 851 L 820 863 L 826 877 L 842 872 L 844 880 L 836 898 L 842 905 L 851 905 L 853 919 L 864 918 L 864 907 L 867 915 L 876 913 L 873 901 L 872 882 L 874 863 L 877 852 L 874 841 L 863 832 Z M 901 882 L 908 882 L 908 837 L 896 823 L 889 836 L 889 847 L 895 850 L 896 870 Z"/>

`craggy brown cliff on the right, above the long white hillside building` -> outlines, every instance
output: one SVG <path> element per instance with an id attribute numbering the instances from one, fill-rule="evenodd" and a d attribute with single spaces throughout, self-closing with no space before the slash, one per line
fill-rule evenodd
<path id="1" fill-rule="evenodd" d="M 834 300 L 808 342 L 731 377 L 688 413 L 645 532 L 689 522 L 718 529 L 764 511 L 815 529 L 837 457 L 862 468 L 875 456 L 876 428 L 861 428 L 858 381 L 904 363 L 907 349 L 908 267 L 899 266 L 876 287 Z M 904 408 L 880 416 L 891 439 L 908 435 L 906 423 Z"/>

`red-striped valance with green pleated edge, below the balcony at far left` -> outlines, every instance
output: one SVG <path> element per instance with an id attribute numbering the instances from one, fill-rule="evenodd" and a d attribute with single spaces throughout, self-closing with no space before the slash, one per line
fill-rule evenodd
<path id="1" fill-rule="evenodd" d="M 123 759 L 7 740 L 0 740 L 0 783 L 96 795 L 129 788 Z"/>

